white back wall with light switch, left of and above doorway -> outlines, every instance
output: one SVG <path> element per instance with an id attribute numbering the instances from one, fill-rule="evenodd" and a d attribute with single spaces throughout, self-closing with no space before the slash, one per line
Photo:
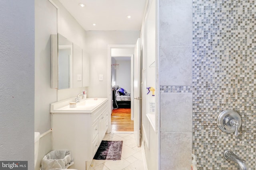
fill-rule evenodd
<path id="1" fill-rule="evenodd" d="M 87 32 L 87 48 L 90 55 L 90 87 L 88 94 L 92 98 L 107 98 L 106 63 L 108 57 L 108 45 L 133 45 L 139 37 L 140 31 Z M 99 74 L 103 74 L 103 81 L 99 81 Z"/>

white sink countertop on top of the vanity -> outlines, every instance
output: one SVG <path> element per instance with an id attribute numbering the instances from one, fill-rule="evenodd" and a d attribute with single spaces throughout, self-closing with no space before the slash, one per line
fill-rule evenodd
<path id="1" fill-rule="evenodd" d="M 72 100 L 64 100 L 51 104 L 51 113 L 92 113 L 96 108 L 105 103 L 107 98 L 87 98 L 85 100 L 80 100 L 76 104 L 76 107 L 70 108 L 69 103 L 74 102 Z"/>

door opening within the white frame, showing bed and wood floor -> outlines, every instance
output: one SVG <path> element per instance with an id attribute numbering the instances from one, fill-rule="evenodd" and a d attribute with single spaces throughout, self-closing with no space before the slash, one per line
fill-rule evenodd
<path id="1" fill-rule="evenodd" d="M 134 49 L 112 49 L 111 83 L 112 113 L 111 132 L 133 132 L 134 123 L 131 117 L 131 57 Z M 121 56 L 120 56 L 121 55 Z"/>

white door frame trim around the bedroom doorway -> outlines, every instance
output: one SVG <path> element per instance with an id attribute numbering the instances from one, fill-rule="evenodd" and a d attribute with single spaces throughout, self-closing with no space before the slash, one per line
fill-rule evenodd
<path id="1" fill-rule="evenodd" d="M 108 96 L 108 112 L 110 117 L 108 120 L 108 131 L 111 132 L 111 113 L 112 113 L 112 82 L 111 82 L 111 49 L 125 49 L 125 48 L 134 48 L 135 45 L 108 45 L 108 59 L 107 59 L 107 96 Z M 126 56 L 132 56 L 133 54 L 127 54 Z M 133 67 L 133 58 L 131 57 L 131 67 Z M 133 70 L 131 70 L 132 72 Z M 133 78 L 133 72 L 131 74 L 131 79 Z M 133 82 L 131 86 L 131 118 L 133 119 Z"/>

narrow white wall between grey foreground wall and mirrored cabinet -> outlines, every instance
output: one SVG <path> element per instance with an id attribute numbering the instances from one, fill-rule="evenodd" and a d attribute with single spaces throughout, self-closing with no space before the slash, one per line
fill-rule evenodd
<path id="1" fill-rule="evenodd" d="M 50 104 L 57 101 L 57 90 L 51 85 L 51 34 L 57 34 L 57 9 L 48 0 L 35 0 L 35 131 L 41 134 L 51 128 Z M 35 170 L 42 157 L 52 150 L 51 135 L 40 139 Z"/>

